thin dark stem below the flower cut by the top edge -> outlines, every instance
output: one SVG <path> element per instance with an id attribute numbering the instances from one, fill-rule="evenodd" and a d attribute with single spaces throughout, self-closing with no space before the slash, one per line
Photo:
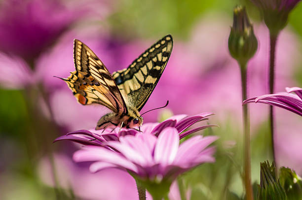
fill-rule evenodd
<path id="1" fill-rule="evenodd" d="M 276 52 L 276 42 L 278 34 L 269 33 L 270 40 L 270 52 L 269 52 L 269 93 L 274 93 L 274 81 L 275 81 L 275 52 Z M 274 119 L 273 119 L 273 106 L 269 106 L 269 128 L 271 136 L 271 148 L 273 161 L 276 164 L 275 157 L 275 145 L 274 145 Z"/>

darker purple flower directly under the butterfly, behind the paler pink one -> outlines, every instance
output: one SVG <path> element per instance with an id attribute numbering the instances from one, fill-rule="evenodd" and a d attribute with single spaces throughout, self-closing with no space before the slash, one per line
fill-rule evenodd
<path id="1" fill-rule="evenodd" d="M 196 122 L 199 122 L 201 120 L 207 120 L 208 119 L 207 117 L 210 115 L 213 115 L 213 113 L 209 113 L 209 112 L 201 113 L 199 115 L 194 115 L 190 117 L 188 117 L 187 115 L 176 115 L 161 123 L 143 124 L 140 128 L 142 133 L 151 133 L 155 136 L 159 136 L 165 128 L 173 127 L 178 131 L 179 138 L 182 139 L 191 133 L 195 133 L 197 131 L 206 129 L 208 127 L 215 126 L 215 125 L 204 125 L 185 131 L 187 128 L 189 128 L 191 125 L 195 124 Z M 133 129 L 124 129 L 124 128 L 122 128 L 121 131 L 119 131 L 119 127 L 116 127 L 114 130 L 106 129 L 105 131 L 104 130 L 99 130 L 99 131 L 78 130 L 60 136 L 56 138 L 54 142 L 60 140 L 70 140 L 83 145 L 106 147 L 107 141 L 118 141 L 121 136 L 136 135 L 138 133 L 140 132 Z"/>

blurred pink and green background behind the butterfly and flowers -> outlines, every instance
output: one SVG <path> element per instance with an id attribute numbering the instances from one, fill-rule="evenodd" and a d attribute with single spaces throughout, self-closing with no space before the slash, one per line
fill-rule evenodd
<path id="1" fill-rule="evenodd" d="M 259 41 L 248 64 L 249 97 L 268 93 L 268 31 L 248 0 L 0 0 L 0 199 L 138 199 L 132 177 L 117 169 L 96 174 L 72 154 L 80 145 L 52 141 L 78 129 L 91 129 L 106 112 L 82 106 L 67 85 L 53 76 L 74 71 L 73 40 L 80 39 L 110 72 L 127 67 L 140 53 L 170 33 L 174 48 L 143 112 L 145 122 L 173 114 L 214 112 L 201 133 L 216 134 L 214 164 L 184 174 L 191 200 L 242 197 L 240 71 L 229 56 L 232 9 L 247 6 Z M 289 17 L 276 52 L 276 91 L 302 86 L 302 4 Z M 250 104 L 252 177 L 260 162 L 272 160 L 267 132 L 268 106 Z M 277 165 L 302 175 L 301 117 L 276 108 Z M 173 184 L 171 200 L 180 200 Z M 151 197 L 149 197 L 151 199 Z"/>

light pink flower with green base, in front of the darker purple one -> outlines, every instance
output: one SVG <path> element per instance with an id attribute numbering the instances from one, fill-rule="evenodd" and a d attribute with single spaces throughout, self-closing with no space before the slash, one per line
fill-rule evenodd
<path id="1" fill-rule="evenodd" d="M 180 173 L 202 163 L 214 162 L 215 148 L 206 147 L 216 139 L 217 136 L 196 135 L 179 145 L 179 131 L 167 127 L 158 137 L 138 133 L 121 136 L 119 141 L 107 141 L 109 148 L 87 146 L 76 151 L 74 160 L 94 162 L 90 166 L 92 172 L 106 168 L 127 170 L 154 198 L 159 193 L 160 196 L 167 194 Z"/>

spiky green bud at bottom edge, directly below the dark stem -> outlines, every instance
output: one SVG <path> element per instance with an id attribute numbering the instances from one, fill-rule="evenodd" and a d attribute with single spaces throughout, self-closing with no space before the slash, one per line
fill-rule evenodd
<path id="1" fill-rule="evenodd" d="M 287 196 L 275 174 L 275 165 L 260 164 L 260 185 L 258 185 L 257 200 L 286 200 Z"/>

